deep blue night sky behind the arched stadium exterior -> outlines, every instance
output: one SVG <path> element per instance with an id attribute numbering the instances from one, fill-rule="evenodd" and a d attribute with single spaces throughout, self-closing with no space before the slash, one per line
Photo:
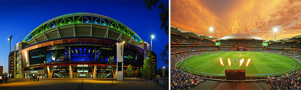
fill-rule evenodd
<path id="1" fill-rule="evenodd" d="M 159 1 L 159 3 L 162 1 Z M 168 3 L 168 1 L 164 1 Z M 158 4 L 159 4 L 158 3 Z M 159 61 L 160 52 L 168 43 L 168 35 L 160 29 L 159 10 L 152 7 L 149 11 L 142 1 L 0 1 L 0 66 L 3 66 L 3 73 L 8 72 L 8 38 L 11 40 L 11 51 L 14 45 L 21 42 L 37 26 L 57 16 L 69 13 L 96 13 L 122 22 L 143 41 L 150 43 L 151 38 L 148 32 L 155 35 L 153 39 L 153 51 L 157 54 L 157 68 L 164 65 Z"/>

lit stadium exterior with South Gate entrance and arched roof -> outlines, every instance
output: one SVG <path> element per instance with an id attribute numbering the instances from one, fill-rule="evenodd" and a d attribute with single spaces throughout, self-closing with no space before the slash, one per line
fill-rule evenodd
<path id="1" fill-rule="evenodd" d="M 116 61 L 116 44 L 120 42 L 124 42 L 124 67 L 143 66 L 150 46 L 123 23 L 95 13 L 58 16 L 15 45 L 13 76 L 110 78 L 107 60 L 114 56 Z"/>

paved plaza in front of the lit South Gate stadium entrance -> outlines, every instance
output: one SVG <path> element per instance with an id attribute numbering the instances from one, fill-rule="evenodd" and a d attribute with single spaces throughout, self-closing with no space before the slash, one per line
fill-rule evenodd
<path id="1" fill-rule="evenodd" d="M 44 90 L 91 90 L 91 89 L 131 89 L 131 90 L 145 90 L 146 80 L 131 78 L 125 78 L 124 81 L 117 81 L 113 79 L 113 85 L 111 85 L 112 79 L 39 79 L 39 81 L 31 81 L 29 79 L 11 79 L 8 83 L 0 84 L 0 89 L 14 89 L 14 90 L 26 90 L 26 89 L 44 89 Z M 163 90 L 168 89 L 159 85 L 156 80 L 148 80 L 147 89 L 150 90 Z"/>

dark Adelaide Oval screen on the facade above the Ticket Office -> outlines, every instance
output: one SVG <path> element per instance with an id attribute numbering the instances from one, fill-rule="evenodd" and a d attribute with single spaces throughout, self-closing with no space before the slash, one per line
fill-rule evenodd
<path id="1" fill-rule="evenodd" d="M 46 61 L 45 50 L 29 52 L 29 64 L 40 64 L 40 63 L 45 63 L 45 61 Z"/>

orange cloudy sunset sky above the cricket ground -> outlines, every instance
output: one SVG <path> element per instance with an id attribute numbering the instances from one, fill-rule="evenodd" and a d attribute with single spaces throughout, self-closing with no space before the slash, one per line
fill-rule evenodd
<path id="1" fill-rule="evenodd" d="M 301 35 L 301 1 L 197 1 L 172 0 L 171 26 L 197 34 L 222 38 L 249 33 L 265 40 Z"/>

